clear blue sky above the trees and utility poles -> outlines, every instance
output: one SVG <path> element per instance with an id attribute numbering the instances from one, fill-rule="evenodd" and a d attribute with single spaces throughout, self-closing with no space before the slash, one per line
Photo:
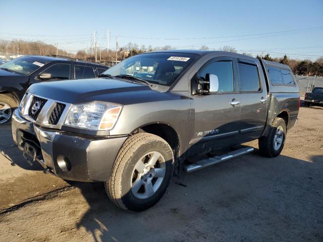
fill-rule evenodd
<path id="1" fill-rule="evenodd" d="M 231 45 L 253 54 L 262 50 L 273 56 L 288 53 L 310 59 L 323 55 L 322 0 L 0 0 L 0 16 L 0 38 L 58 42 L 69 51 L 90 46 L 94 31 L 99 46 L 106 47 L 109 28 L 111 48 L 115 48 L 115 36 L 120 36 L 119 46 L 128 42 L 177 48 Z M 314 27 L 322 28 L 309 29 Z M 261 35 L 289 30 L 299 31 Z M 248 34 L 260 35 L 239 36 Z"/>

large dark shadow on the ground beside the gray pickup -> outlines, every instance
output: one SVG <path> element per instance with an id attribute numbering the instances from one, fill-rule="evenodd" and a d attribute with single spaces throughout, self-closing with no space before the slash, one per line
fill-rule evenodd
<path id="1" fill-rule="evenodd" d="M 322 171 L 323 155 L 305 161 L 255 151 L 174 178 L 141 213 L 114 206 L 102 184 L 71 182 L 90 207 L 76 227 L 95 241 L 322 241 Z"/>

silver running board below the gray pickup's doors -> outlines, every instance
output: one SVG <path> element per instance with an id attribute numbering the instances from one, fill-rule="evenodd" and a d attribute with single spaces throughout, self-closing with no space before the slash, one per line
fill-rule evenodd
<path id="1" fill-rule="evenodd" d="M 253 151 L 252 147 L 238 149 L 238 150 L 231 151 L 231 152 L 224 154 L 224 155 L 214 156 L 211 158 L 199 160 L 199 161 L 195 162 L 194 164 L 186 165 L 186 166 L 184 166 L 184 170 L 187 173 L 190 173 L 192 171 L 199 170 L 199 169 L 202 169 L 202 168 L 210 166 L 210 165 L 218 164 L 222 161 L 230 160 L 232 158 L 250 153 L 252 151 Z"/>

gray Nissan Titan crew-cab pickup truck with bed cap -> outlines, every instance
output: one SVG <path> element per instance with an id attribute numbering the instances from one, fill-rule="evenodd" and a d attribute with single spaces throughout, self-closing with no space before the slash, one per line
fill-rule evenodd
<path id="1" fill-rule="evenodd" d="M 149 52 L 97 79 L 32 85 L 12 134 L 30 164 L 103 181 L 117 206 L 142 211 L 174 173 L 253 151 L 239 144 L 258 139 L 260 154 L 279 155 L 299 103 L 288 66 L 221 51 Z"/>

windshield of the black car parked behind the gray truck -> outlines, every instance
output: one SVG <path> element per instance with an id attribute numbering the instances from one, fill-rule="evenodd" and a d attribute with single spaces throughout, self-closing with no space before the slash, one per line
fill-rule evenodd
<path id="1" fill-rule="evenodd" d="M 46 63 L 47 62 L 43 61 L 42 59 L 22 56 L 1 65 L 0 68 L 14 73 L 29 75 Z"/>

